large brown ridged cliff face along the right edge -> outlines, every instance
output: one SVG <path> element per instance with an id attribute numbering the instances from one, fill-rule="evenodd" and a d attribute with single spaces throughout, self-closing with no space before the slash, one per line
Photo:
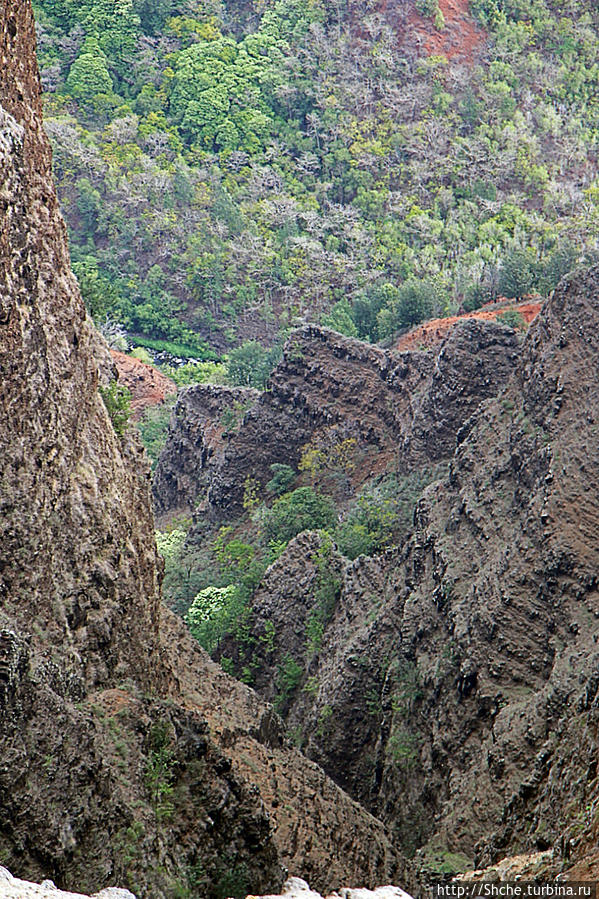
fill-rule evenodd
<path id="1" fill-rule="evenodd" d="M 261 689 L 284 653 L 304 662 L 290 726 L 431 871 L 548 847 L 567 866 L 595 838 L 597 297 L 595 269 L 547 302 L 400 548 L 332 558 L 318 652 L 293 618 L 315 602 L 317 537 L 292 542 L 254 600 L 256 632 L 278 615 Z"/>

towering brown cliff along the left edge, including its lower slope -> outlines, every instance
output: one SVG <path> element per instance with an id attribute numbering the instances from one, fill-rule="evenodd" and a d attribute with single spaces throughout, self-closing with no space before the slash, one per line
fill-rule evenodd
<path id="1" fill-rule="evenodd" d="M 98 393 L 111 362 L 70 274 L 33 48 L 28 0 L 0 0 L 0 859 L 152 899 L 273 889 L 283 858 L 324 889 L 345 852 L 352 879 L 388 880 L 400 862 L 383 825 L 224 675 L 235 727 L 221 727 L 213 669 L 161 620 L 149 470 Z M 271 812 L 285 790 L 297 839 L 283 845 Z M 368 857 L 351 850 L 362 839 Z"/>

